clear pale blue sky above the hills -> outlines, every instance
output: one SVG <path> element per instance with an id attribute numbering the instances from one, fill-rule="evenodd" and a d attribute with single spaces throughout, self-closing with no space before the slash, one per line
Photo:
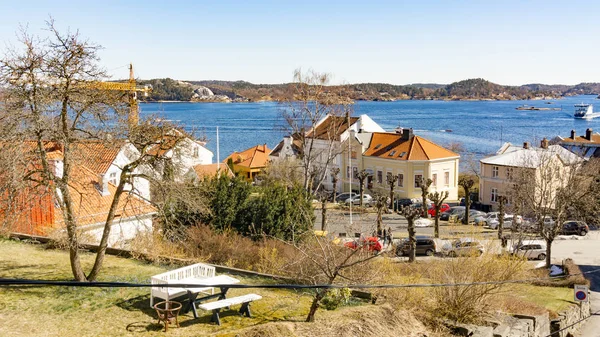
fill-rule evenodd
<path id="1" fill-rule="evenodd" d="M 115 78 L 133 62 L 144 79 L 600 82 L 600 1 L 2 0 L 3 47 L 49 15 L 101 44 Z"/>

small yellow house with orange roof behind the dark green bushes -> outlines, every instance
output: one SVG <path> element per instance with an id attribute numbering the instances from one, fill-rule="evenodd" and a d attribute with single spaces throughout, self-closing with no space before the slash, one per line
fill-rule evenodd
<path id="1" fill-rule="evenodd" d="M 256 145 L 242 152 L 234 152 L 223 163 L 231 163 L 233 172 L 246 177 L 250 182 L 267 167 L 271 150 L 264 145 Z"/>

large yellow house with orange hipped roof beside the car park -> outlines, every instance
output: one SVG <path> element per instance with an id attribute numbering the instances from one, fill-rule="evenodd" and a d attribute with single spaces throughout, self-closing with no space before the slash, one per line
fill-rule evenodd
<path id="1" fill-rule="evenodd" d="M 366 188 L 389 193 L 388 175 L 398 176 L 394 194 L 399 198 L 420 198 L 421 178 L 433 180 L 429 192 L 448 191 L 448 200 L 458 200 L 458 163 L 460 156 L 425 138 L 412 129 L 397 132 L 355 133 L 351 154 L 344 156 L 344 190 L 359 189 L 357 173 L 366 170 Z M 348 147 L 348 144 L 346 145 Z"/>

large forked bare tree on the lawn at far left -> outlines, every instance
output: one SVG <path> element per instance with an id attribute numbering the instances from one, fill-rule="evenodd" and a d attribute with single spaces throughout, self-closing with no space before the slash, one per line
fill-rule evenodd
<path id="1" fill-rule="evenodd" d="M 79 149 L 90 141 L 106 147 L 120 143 L 115 138 L 130 136 L 136 143 L 139 133 L 129 133 L 127 104 L 123 93 L 99 90 L 90 85 L 106 78 L 98 65 L 99 46 L 79 34 L 59 32 L 48 22 L 49 39 L 39 39 L 23 32 L 23 50 L 9 50 L 0 61 L 0 82 L 4 87 L 2 116 L 11 115 L 19 122 L 15 133 L 0 135 L 2 142 L 23 146 L 24 157 L 31 165 L 22 166 L 23 179 L 33 188 L 46 187 L 60 206 L 65 224 L 73 276 L 78 281 L 94 280 L 102 266 L 110 228 L 121 196 L 134 193 L 137 168 L 149 160 L 141 156 L 121 168 L 120 181 L 104 222 L 99 250 L 86 276 L 79 259 L 78 218 L 75 202 L 81 195 L 74 186 L 81 183 L 77 167 Z M 141 132 L 141 130 L 139 130 Z M 146 130 L 148 131 L 148 130 Z M 16 137 L 15 137 L 16 135 Z M 142 138 L 145 138 L 143 136 Z M 141 152 L 161 140 L 142 142 Z M 31 145 L 31 146 L 30 146 Z M 60 165 L 50 156 L 60 152 Z M 53 161 L 54 160 L 54 161 Z"/>

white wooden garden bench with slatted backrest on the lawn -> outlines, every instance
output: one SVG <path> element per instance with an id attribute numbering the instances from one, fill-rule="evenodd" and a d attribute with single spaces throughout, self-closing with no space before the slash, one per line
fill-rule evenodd
<path id="1" fill-rule="evenodd" d="M 150 307 L 154 307 L 154 298 L 162 298 L 165 301 L 174 299 L 180 296 L 187 295 L 189 289 L 160 287 L 154 285 L 164 284 L 186 284 L 197 282 L 198 279 L 204 279 L 215 276 L 215 267 L 204 263 L 196 263 L 190 266 L 174 269 L 162 274 L 152 276 L 150 282 L 152 288 L 150 290 Z M 194 292 L 201 292 L 207 295 L 215 293 L 213 287 L 194 288 Z"/>

